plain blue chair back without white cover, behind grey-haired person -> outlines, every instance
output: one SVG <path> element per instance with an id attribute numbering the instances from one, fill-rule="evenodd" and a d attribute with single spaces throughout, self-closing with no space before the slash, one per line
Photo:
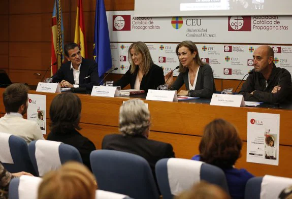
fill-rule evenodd
<path id="1" fill-rule="evenodd" d="M 133 198 L 158 198 L 149 163 L 141 156 L 114 150 L 95 150 L 90 163 L 99 188 Z"/>

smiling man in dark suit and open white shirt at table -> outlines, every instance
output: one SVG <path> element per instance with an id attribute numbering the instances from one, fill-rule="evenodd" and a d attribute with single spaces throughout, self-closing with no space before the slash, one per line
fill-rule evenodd
<path id="1" fill-rule="evenodd" d="M 53 76 L 53 82 L 61 87 L 92 89 L 99 83 L 98 64 L 94 60 L 82 58 L 80 48 L 75 43 L 64 46 L 68 62 L 63 63 Z"/>

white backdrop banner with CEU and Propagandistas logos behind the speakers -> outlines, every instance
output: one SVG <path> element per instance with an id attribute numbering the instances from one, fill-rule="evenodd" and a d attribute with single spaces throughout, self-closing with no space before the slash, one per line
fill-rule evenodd
<path id="1" fill-rule="evenodd" d="M 112 63 L 113 68 L 118 67 L 112 73 L 124 74 L 128 70 L 129 46 L 134 41 L 143 41 L 147 42 L 154 63 L 167 74 L 179 65 L 177 44 L 191 40 L 197 44 L 202 60 L 211 65 L 214 78 L 242 79 L 253 69 L 253 51 L 265 43 L 272 44 L 276 66 L 292 74 L 292 46 L 285 45 L 292 44 L 289 35 L 292 16 L 152 18 L 133 15 L 134 11 L 107 12 Z M 178 76 L 177 71 L 174 76 Z"/>

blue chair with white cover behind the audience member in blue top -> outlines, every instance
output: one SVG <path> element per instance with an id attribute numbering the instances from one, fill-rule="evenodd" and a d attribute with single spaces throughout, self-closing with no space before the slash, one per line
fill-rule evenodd
<path id="1" fill-rule="evenodd" d="M 168 174 L 167 163 L 169 159 L 171 158 L 160 159 L 155 165 L 155 173 L 156 173 L 158 186 L 164 199 L 172 199 L 174 196 L 171 193 L 170 182 L 168 178 L 169 174 Z M 172 159 L 179 160 L 180 158 L 172 158 Z M 184 159 L 184 161 L 195 161 L 195 160 Z M 183 164 L 177 167 L 177 171 L 178 172 L 185 171 L 188 173 L 190 172 L 188 170 L 185 170 L 185 167 Z M 222 189 L 224 189 L 226 192 L 229 192 L 224 172 L 220 168 L 215 167 L 214 165 L 207 164 L 207 163 L 202 164 L 201 169 L 200 169 L 200 180 L 205 180 L 209 183 L 216 184 L 220 186 Z"/>

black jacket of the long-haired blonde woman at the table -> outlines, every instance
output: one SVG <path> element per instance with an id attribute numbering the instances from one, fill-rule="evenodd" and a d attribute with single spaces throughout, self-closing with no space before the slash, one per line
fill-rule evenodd
<path id="1" fill-rule="evenodd" d="M 134 74 L 131 74 L 131 67 L 129 70 L 122 76 L 121 79 L 114 82 L 114 86 L 120 86 L 121 88 L 125 87 L 126 85 L 130 84 L 131 89 L 134 88 L 135 80 L 138 74 L 138 67 Z M 161 84 L 164 84 L 164 73 L 161 67 L 158 65 L 153 64 L 146 76 L 143 76 L 140 89 L 148 91 L 148 89 L 157 89 L 157 87 Z"/>

